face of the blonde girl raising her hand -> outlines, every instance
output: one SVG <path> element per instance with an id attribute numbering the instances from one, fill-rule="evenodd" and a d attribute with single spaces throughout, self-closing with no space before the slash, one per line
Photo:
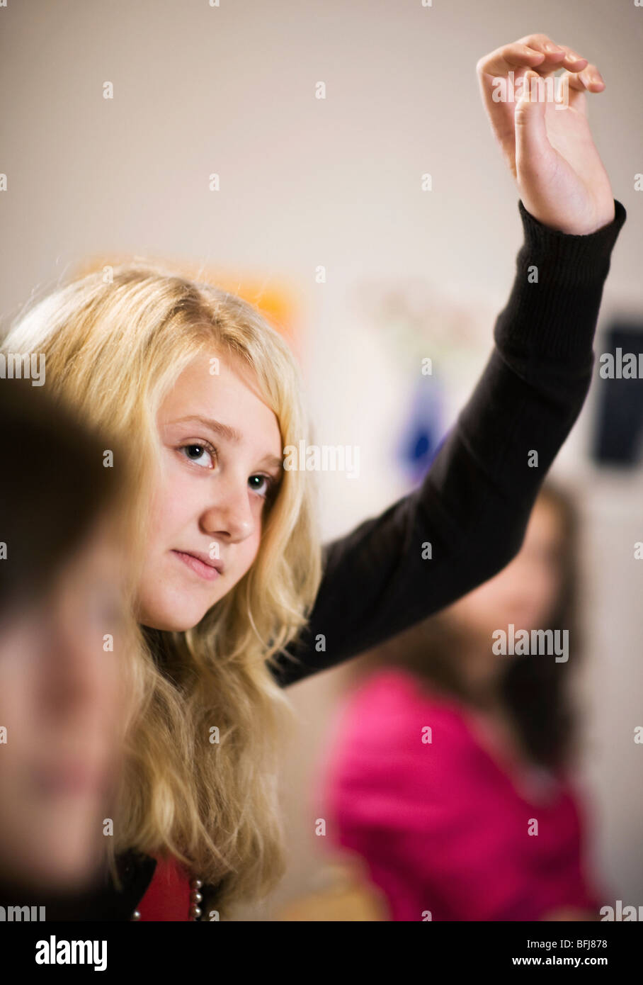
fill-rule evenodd
<path id="1" fill-rule="evenodd" d="M 180 374 L 159 410 L 161 475 L 138 593 L 138 620 L 198 624 L 256 557 L 267 498 L 283 477 L 282 436 L 251 369 L 209 354 Z"/>

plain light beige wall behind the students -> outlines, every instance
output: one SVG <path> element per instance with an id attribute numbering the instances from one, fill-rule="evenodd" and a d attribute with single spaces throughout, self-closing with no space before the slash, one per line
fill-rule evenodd
<path id="1" fill-rule="evenodd" d="M 608 88 L 591 99 L 592 121 L 629 214 L 604 320 L 643 309 L 643 199 L 633 190 L 643 171 L 643 9 L 633 3 L 10 0 L 0 18 L 5 319 L 108 250 L 291 279 L 304 301 L 319 440 L 358 443 L 362 454 L 357 482 L 320 477 L 327 536 L 404 489 L 390 455 L 408 379 L 358 302 L 364 285 L 419 278 L 436 296 L 459 298 L 478 312 L 482 366 L 511 284 L 518 196 L 482 112 L 475 65 L 484 52 L 545 31 L 599 65 Z M 113 100 L 102 99 L 105 81 Z M 314 99 L 319 81 L 325 100 Z M 213 171 L 219 193 L 209 191 Z M 419 190 L 426 171 L 430 194 Z M 453 393 L 473 378 L 471 366 L 451 372 Z M 643 902 L 640 756 L 621 731 L 636 715 L 643 724 L 642 576 L 630 553 L 643 540 L 641 474 L 599 478 L 584 461 L 592 400 L 557 463 L 589 521 L 585 771 L 600 812 L 599 862 L 623 900 Z M 305 891 L 318 869 L 302 791 L 340 676 L 291 691 L 302 721 L 285 765 L 292 865 L 278 900 Z"/>

